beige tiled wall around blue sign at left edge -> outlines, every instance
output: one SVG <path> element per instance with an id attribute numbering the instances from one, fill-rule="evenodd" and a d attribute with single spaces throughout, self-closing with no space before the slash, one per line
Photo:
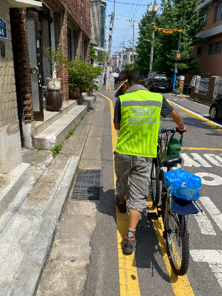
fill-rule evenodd
<path id="1" fill-rule="evenodd" d="M 0 0 L 0 17 L 6 22 L 8 38 L 0 38 L 5 46 L 5 57 L 0 55 L 0 127 L 3 127 L 18 120 L 10 16 L 5 0 Z"/>

